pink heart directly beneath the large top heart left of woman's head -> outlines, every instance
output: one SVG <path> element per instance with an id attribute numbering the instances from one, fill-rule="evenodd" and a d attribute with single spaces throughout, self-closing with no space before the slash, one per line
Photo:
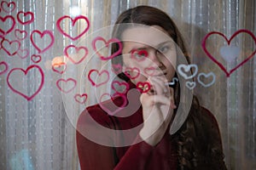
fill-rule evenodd
<path id="1" fill-rule="evenodd" d="M 75 54 L 68 54 L 69 50 L 72 50 L 72 48 L 75 49 Z M 82 55 L 79 53 L 80 51 L 82 52 Z M 80 46 L 80 47 L 76 47 L 75 45 L 69 45 L 64 49 L 64 54 L 67 56 L 68 59 L 70 59 L 73 64 L 78 65 L 79 63 L 81 63 L 85 57 L 88 54 L 88 49 L 86 47 Z"/>

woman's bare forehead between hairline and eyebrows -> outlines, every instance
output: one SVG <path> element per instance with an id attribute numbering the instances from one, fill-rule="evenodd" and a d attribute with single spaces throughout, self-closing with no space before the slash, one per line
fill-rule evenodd
<path id="1" fill-rule="evenodd" d="M 160 26 L 133 26 L 122 33 L 122 42 L 144 44 L 156 47 L 162 42 L 172 41 L 172 37 Z"/>

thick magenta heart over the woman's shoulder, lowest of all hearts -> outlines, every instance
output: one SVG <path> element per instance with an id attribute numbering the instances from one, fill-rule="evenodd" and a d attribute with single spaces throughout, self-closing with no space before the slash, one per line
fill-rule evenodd
<path id="1" fill-rule="evenodd" d="M 122 98 L 123 102 L 120 106 L 117 106 L 113 103 L 113 97 L 115 96 Z M 109 102 L 106 102 L 105 100 L 103 100 L 104 97 L 110 98 L 111 100 L 109 100 Z M 99 105 L 102 107 L 102 110 L 106 111 L 108 115 L 111 115 L 111 116 L 114 116 L 115 113 L 122 110 L 126 104 L 127 104 L 127 99 L 125 98 L 125 95 L 113 94 L 113 96 L 111 96 L 110 94 L 107 94 L 107 93 L 102 94 L 100 98 L 100 103 L 99 103 Z"/>

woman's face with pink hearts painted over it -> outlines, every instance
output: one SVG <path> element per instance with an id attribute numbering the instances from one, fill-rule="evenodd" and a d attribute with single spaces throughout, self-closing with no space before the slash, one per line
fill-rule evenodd
<path id="1" fill-rule="evenodd" d="M 177 59 L 175 42 L 160 26 L 135 26 L 122 34 L 123 71 L 131 82 L 165 77 L 171 82 Z"/>

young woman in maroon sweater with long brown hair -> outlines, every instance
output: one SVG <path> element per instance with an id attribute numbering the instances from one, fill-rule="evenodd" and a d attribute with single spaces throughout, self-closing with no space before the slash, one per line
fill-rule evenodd
<path id="1" fill-rule="evenodd" d="M 128 82 L 129 90 L 141 93 L 129 95 L 127 90 L 113 100 L 86 108 L 79 116 L 81 169 L 226 169 L 218 123 L 195 97 L 185 120 L 180 120 L 182 126 L 171 133 L 170 128 L 179 121 L 176 117 L 183 112 L 178 112 L 184 103 L 183 85 L 182 81 L 171 87 L 166 84 L 179 78 L 179 58 L 188 63 L 189 58 L 170 17 L 158 8 L 130 8 L 119 15 L 113 37 L 122 42 L 122 55 L 112 59 L 113 67 L 122 65 L 118 76 Z M 119 47 L 113 43 L 112 53 Z M 134 107 L 125 108 L 125 99 L 126 105 Z M 138 103 L 139 108 L 131 111 Z"/>

